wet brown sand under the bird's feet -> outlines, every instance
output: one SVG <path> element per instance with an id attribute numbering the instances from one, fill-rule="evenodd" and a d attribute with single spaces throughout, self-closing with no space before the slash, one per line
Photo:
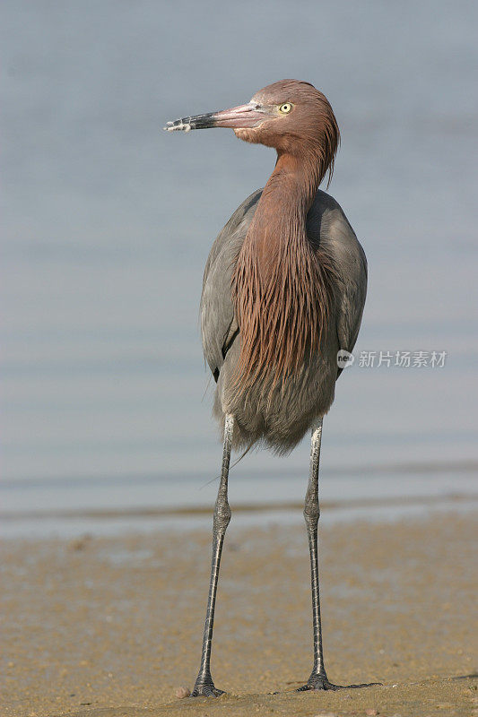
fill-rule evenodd
<path id="1" fill-rule="evenodd" d="M 217 700 L 175 697 L 196 677 L 210 531 L 5 541 L 1 713 L 468 717 L 478 708 L 476 517 L 321 531 L 329 678 L 383 686 L 300 694 L 311 667 L 305 531 L 232 521 L 213 645 L 228 695 Z"/>

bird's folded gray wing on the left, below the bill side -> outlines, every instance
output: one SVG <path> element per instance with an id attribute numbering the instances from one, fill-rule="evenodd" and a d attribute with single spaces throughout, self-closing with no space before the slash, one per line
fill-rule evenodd
<path id="1" fill-rule="evenodd" d="M 204 269 L 201 333 L 204 358 L 217 381 L 224 358 L 239 334 L 230 296 L 232 271 L 262 189 L 250 194 L 213 243 Z"/>

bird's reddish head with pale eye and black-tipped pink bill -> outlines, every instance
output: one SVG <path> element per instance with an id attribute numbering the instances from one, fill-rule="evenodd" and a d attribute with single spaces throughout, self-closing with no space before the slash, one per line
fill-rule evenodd
<path id="1" fill-rule="evenodd" d="M 340 140 L 334 112 L 322 92 L 298 80 L 281 80 L 259 90 L 246 105 L 168 122 L 169 131 L 230 127 L 245 142 L 278 152 L 318 152 L 333 164 Z"/>

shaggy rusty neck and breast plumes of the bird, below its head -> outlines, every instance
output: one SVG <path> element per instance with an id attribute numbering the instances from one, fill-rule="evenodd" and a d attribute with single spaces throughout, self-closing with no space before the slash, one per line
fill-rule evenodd
<path id="1" fill-rule="evenodd" d="M 241 334 L 237 386 L 282 383 L 320 350 L 333 267 L 307 236 L 307 213 L 326 173 L 320 158 L 278 154 L 232 277 Z"/>

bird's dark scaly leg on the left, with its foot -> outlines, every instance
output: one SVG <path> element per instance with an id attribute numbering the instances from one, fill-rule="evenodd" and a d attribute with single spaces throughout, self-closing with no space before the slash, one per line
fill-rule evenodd
<path id="1" fill-rule="evenodd" d="M 213 560 L 211 564 L 211 582 L 209 583 L 209 597 L 207 599 L 207 610 L 204 624 L 203 637 L 203 654 L 201 657 L 201 667 L 196 679 L 196 684 L 192 697 L 204 695 L 207 697 L 217 697 L 222 695 L 221 689 L 214 687 L 213 678 L 211 677 L 211 645 L 213 644 L 213 622 L 214 622 L 214 606 L 216 602 L 217 580 L 219 577 L 219 566 L 221 563 L 222 543 L 226 528 L 230 522 L 230 506 L 228 502 L 228 475 L 230 463 L 230 446 L 232 444 L 232 430 L 234 428 L 234 418 L 228 413 L 224 423 L 224 447 L 222 451 L 222 470 L 221 482 L 214 508 L 213 518 Z"/>

